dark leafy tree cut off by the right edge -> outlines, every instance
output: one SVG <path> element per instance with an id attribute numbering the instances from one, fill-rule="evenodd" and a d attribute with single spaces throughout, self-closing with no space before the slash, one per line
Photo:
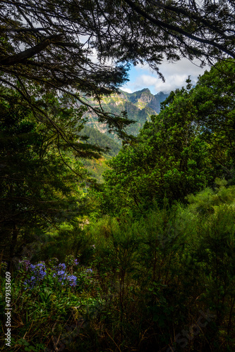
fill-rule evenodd
<path id="1" fill-rule="evenodd" d="M 234 61 L 221 61 L 210 72 L 199 77 L 193 89 L 193 104 L 197 111 L 197 121 L 203 126 L 205 139 L 210 141 L 211 153 L 227 172 L 227 157 L 235 158 L 235 67 Z M 231 168 L 234 167 L 231 164 Z"/>

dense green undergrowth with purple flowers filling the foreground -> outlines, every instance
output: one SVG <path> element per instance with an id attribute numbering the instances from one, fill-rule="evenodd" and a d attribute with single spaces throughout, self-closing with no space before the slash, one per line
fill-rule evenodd
<path id="1" fill-rule="evenodd" d="M 139 220 L 128 214 L 86 225 L 86 267 L 72 256 L 21 263 L 13 351 L 25 341 L 32 351 L 59 344 L 71 352 L 232 351 L 235 194 L 217 184 L 188 196 L 188 206 L 165 200 Z"/>

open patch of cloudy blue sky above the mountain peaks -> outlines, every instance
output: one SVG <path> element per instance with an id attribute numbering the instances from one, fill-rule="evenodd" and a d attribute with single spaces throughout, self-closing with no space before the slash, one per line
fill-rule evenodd
<path id="1" fill-rule="evenodd" d="M 132 66 L 129 71 L 130 81 L 124 84 L 121 89 L 129 93 L 144 88 L 150 89 L 152 94 L 157 94 L 158 92 L 169 93 L 171 90 L 186 85 L 185 81 L 188 75 L 191 75 L 191 80 L 195 84 L 198 80 L 198 75 L 203 75 L 204 71 L 209 69 L 208 66 L 205 68 L 198 66 L 199 63 L 191 63 L 186 58 L 176 63 L 162 63 L 162 65 L 159 65 L 159 70 L 164 75 L 165 82 L 162 82 L 157 73 L 151 72 L 148 65 Z"/>

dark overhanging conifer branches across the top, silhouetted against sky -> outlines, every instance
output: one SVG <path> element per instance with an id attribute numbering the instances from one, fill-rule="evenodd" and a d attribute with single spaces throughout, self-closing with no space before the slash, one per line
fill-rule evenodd
<path id="1" fill-rule="evenodd" d="M 4 0 L 0 32 L 0 80 L 28 100 L 30 82 L 88 104 L 76 92 L 114 92 L 128 63 L 235 57 L 233 1 Z M 96 112 L 119 133 L 129 124 Z"/>

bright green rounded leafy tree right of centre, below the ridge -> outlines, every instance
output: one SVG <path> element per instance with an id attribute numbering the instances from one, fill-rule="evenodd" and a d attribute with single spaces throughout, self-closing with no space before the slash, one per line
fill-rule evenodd
<path id="1" fill-rule="evenodd" d="M 105 187 L 116 211 L 123 207 L 143 211 L 153 201 L 162 205 L 164 196 L 170 203 L 186 201 L 187 194 L 212 186 L 215 177 L 231 175 L 231 157 L 218 144 L 224 165 L 215 155 L 198 118 L 196 89 L 187 82 L 187 89 L 171 92 L 161 113 L 145 123 L 137 143 L 124 147 L 109 162 L 112 170 L 104 175 Z M 215 130 L 212 134 L 217 137 Z"/>

